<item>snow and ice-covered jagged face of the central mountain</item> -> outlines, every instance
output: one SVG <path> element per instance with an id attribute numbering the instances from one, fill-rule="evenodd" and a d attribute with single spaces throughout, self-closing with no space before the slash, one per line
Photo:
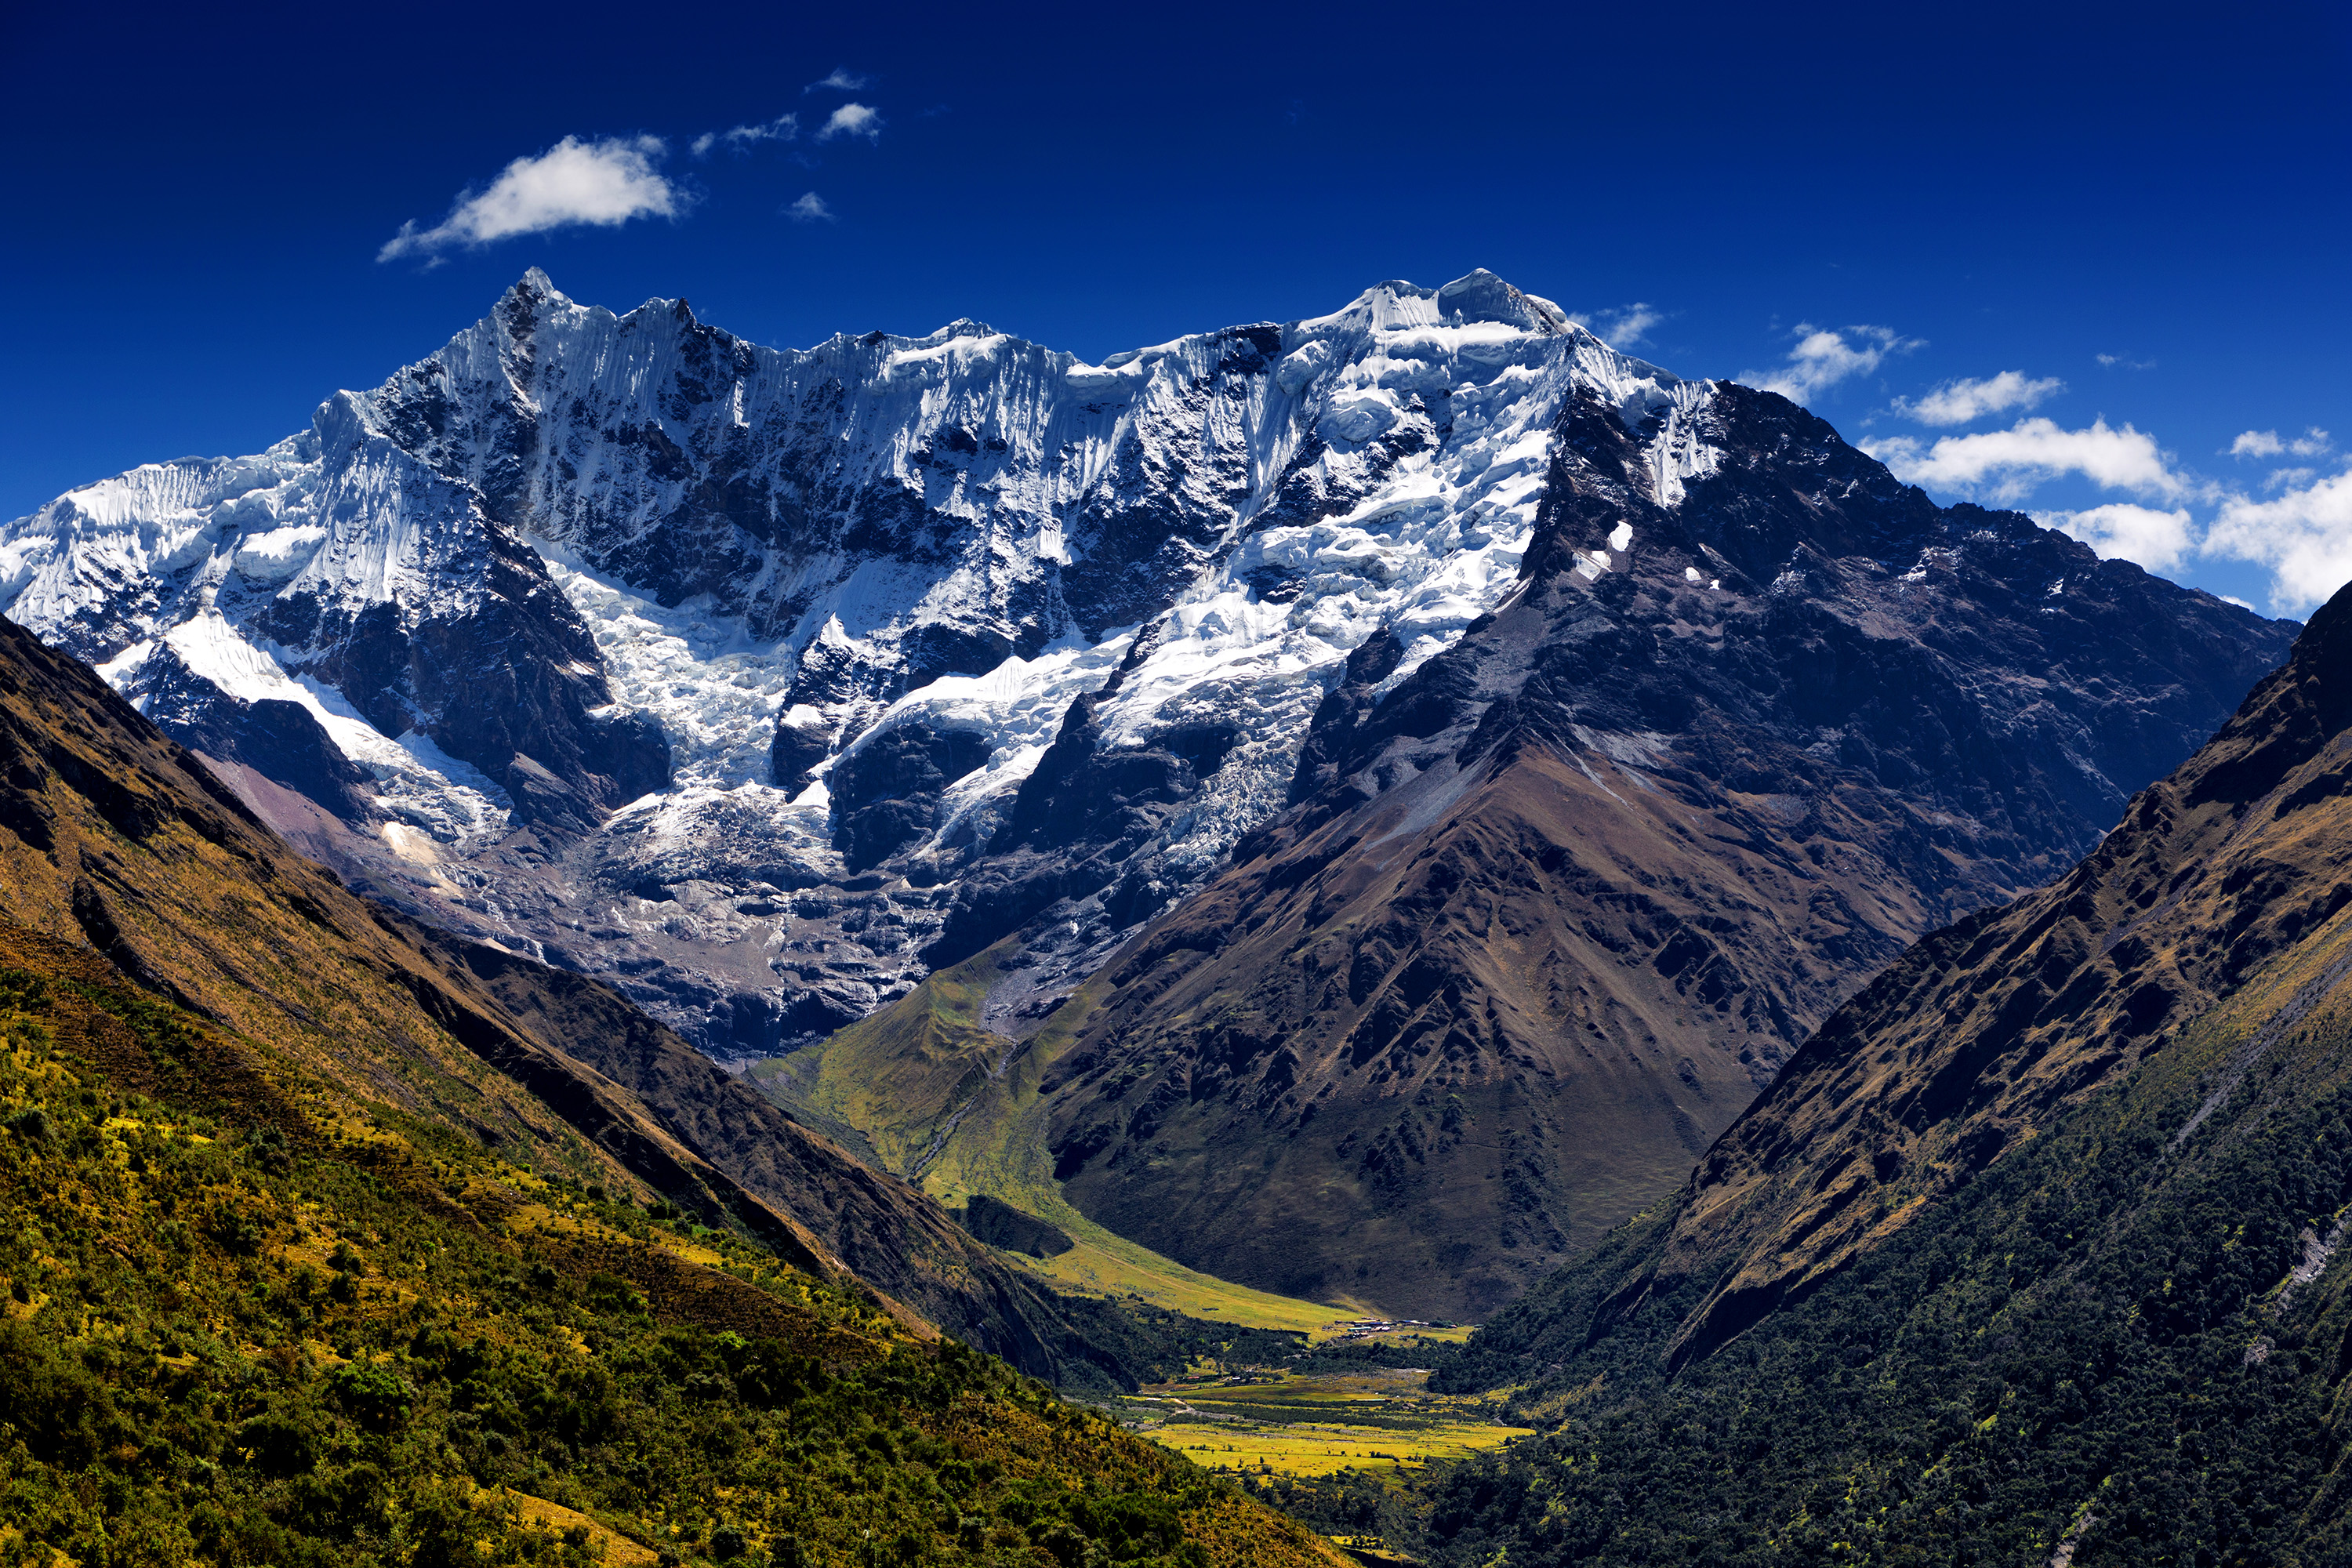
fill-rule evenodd
<path id="1" fill-rule="evenodd" d="M 1722 463 L 1715 383 L 1489 273 L 1087 364 L 532 270 L 263 454 L 7 524 L 0 595 L 348 877 L 755 1051 L 1021 924 L 1054 994 L 1197 886 L 1350 651 L 1510 597 L 1571 395 L 1663 505 Z"/>

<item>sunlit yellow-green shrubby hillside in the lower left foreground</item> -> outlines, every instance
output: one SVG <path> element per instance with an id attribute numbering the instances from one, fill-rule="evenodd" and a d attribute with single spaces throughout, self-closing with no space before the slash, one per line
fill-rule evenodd
<path id="1" fill-rule="evenodd" d="M 0 1563 L 1329 1561 L 743 1237 L 0 961 Z"/>

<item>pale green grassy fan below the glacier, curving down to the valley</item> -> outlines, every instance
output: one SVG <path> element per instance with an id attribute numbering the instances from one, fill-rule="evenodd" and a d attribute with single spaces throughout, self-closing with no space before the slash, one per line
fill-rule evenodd
<path id="1" fill-rule="evenodd" d="M 760 1063 L 753 1081 L 941 1204 L 993 1197 L 1065 1232 L 1070 1251 L 1051 1258 L 1007 1253 L 1056 1291 L 1141 1298 L 1218 1324 L 1301 1333 L 1329 1333 L 1334 1319 L 1355 1312 L 1350 1300 L 1301 1302 L 1188 1269 L 1063 1199 L 1037 1084 L 1068 1051 L 1065 1020 L 1087 1016 L 1091 992 L 1080 990 L 1028 1041 L 995 1034 L 981 1023 L 981 1001 L 1011 952 L 1007 940 L 941 969 L 823 1044 Z"/>

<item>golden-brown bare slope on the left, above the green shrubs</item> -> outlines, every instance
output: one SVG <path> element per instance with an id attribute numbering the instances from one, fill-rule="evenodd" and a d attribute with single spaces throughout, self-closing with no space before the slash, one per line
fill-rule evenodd
<path id="1" fill-rule="evenodd" d="M 906 1182 L 783 1119 L 614 992 L 350 896 L 16 625 L 0 625 L 0 898 L 19 924 L 87 940 L 350 1093 L 524 1166 L 642 1182 L 823 1274 L 849 1276 L 851 1253 L 908 1324 L 1033 1375 L 1089 1359 L 1056 1298 Z"/>

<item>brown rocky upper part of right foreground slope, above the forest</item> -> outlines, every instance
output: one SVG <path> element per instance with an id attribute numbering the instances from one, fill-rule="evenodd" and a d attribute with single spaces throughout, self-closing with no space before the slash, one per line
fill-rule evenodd
<path id="1" fill-rule="evenodd" d="M 1677 1354 L 1724 1342 L 2326 931 L 2352 905 L 2347 726 L 2352 590 L 2067 877 L 1938 931 L 1839 1009 L 1708 1152 L 1623 1309 L 1722 1274 Z M 2340 933 L 2321 957 L 2173 1143 L 2352 973 Z"/>

